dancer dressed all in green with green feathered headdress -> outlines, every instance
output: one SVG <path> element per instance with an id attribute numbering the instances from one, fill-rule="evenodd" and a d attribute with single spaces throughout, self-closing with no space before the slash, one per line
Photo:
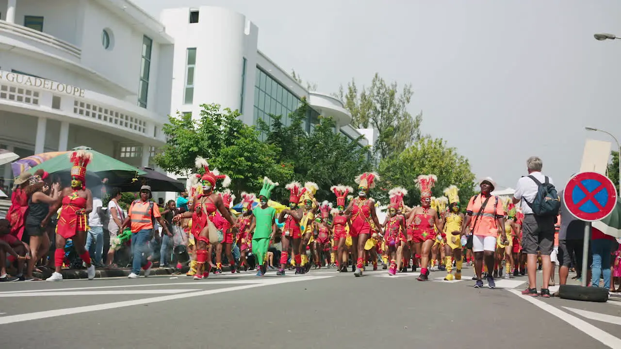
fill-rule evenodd
<path id="1" fill-rule="evenodd" d="M 258 266 L 258 271 L 256 272 L 258 277 L 264 276 L 267 271 L 268 248 L 270 247 L 270 241 L 273 241 L 276 236 L 276 229 L 278 229 L 274 219 L 276 217 L 276 209 L 268 206 L 271 191 L 276 186 L 278 186 L 278 183 L 273 183 L 270 178 L 264 177 L 263 188 L 261 188 L 259 193 L 260 205 L 253 209 L 255 231 L 252 235 L 252 254 L 255 256 L 256 265 Z"/>

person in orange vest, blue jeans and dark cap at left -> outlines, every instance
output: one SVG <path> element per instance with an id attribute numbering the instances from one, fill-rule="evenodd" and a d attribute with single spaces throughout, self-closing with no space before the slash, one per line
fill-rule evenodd
<path id="1" fill-rule="evenodd" d="M 151 199 L 151 187 L 142 186 L 140 188 L 140 199 L 132 202 L 125 222 L 123 222 L 120 231 L 125 227 L 132 230 L 132 250 L 134 252 L 134 261 L 132 261 L 132 273 L 129 274 L 130 279 L 140 276 L 140 267 L 145 271 L 145 278 L 151 273 L 153 263 L 147 261 L 147 255 L 151 255 L 148 242 L 153 237 L 153 228 L 155 220 L 157 220 L 166 235 L 173 236 L 168 230 L 168 225 L 160 215 L 160 209 Z"/>

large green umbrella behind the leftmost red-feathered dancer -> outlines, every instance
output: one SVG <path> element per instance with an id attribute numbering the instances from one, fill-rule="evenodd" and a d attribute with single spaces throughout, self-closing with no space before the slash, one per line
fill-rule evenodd
<path id="1" fill-rule="evenodd" d="M 93 150 L 88 147 L 76 147 L 73 150 L 87 150 L 93 154 L 93 160 L 88 164 L 86 170 L 95 173 L 99 178 L 108 179 L 108 185 L 117 186 L 127 182 L 128 179 L 135 176 L 142 176 L 147 172 L 140 170 L 132 165 L 116 160 L 111 156 Z M 35 173 L 39 169 L 43 169 L 50 174 L 60 174 L 60 176 L 68 175 L 73 167 L 73 163 L 69 160 L 71 152 L 64 155 L 58 155 L 50 160 L 43 161 L 39 165 L 31 168 L 30 173 Z"/>

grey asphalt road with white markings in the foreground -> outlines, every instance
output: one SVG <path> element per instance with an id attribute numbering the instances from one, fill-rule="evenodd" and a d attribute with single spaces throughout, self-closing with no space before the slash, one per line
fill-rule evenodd
<path id="1" fill-rule="evenodd" d="M 621 348 L 621 299 L 333 270 L 0 284 L 2 348 Z"/>

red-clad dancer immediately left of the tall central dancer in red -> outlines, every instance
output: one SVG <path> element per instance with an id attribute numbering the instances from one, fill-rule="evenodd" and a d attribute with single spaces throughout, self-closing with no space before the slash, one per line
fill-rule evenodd
<path id="1" fill-rule="evenodd" d="M 347 194 L 353 192 L 353 188 L 350 186 L 332 186 L 330 188 L 332 193 L 337 196 L 337 208 L 332 209 L 332 224 L 330 229 L 334 234 L 334 243 L 337 246 L 337 254 L 335 256 L 335 265 L 338 271 L 344 271 L 347 273 L 347 246 L 345 246 L 345 240 L 347 239 L 347 232 L 345 228 L 348 226 L 349 217 L 345 215 L 345 199 Z"/>

